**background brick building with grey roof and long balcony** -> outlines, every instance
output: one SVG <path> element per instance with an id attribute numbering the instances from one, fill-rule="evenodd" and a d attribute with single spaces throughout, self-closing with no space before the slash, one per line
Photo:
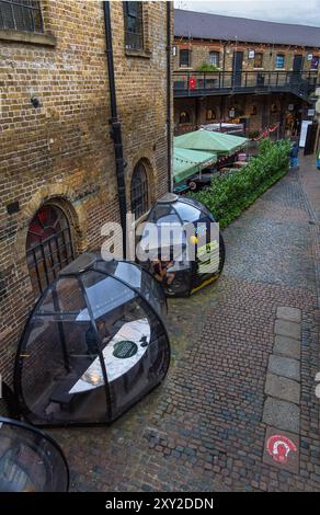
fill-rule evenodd
<path id="1" fill-rule="evenodd" d="M 175 10 L 174 129 L 242 122 L 295 135 L 319 82 L 316 27 Z"/>

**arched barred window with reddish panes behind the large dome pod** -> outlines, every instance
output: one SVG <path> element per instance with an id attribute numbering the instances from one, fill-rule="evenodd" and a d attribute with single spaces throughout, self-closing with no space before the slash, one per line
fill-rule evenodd
<path id="1" fill-rule="evenodd" d="M 41 294 L 73 259 L 65 213 L 50 204 L 43 206 L 32 219 L 26 238 L 26 261 L 35 293 Z"/>

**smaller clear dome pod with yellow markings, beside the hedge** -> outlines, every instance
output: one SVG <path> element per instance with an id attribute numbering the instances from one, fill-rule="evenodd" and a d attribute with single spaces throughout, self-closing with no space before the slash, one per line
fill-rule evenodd
<path id="1" fill-rule="evenodd" d="M 138 261 L 165 295 L 190 296 L 219 277 L 225 242 L 213 214 L 196 199 L 169 193 L 141 227 Z"/>

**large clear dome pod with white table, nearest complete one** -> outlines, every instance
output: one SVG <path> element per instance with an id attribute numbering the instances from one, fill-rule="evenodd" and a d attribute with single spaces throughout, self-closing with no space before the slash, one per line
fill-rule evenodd
<path id="1" fill-rule="evenodd" d="M 164 378 L 165 297 L 135 263 L 85 253 L 38 299 L 16 354 L 21 411 L 35 425 L 110 423 Z"/>

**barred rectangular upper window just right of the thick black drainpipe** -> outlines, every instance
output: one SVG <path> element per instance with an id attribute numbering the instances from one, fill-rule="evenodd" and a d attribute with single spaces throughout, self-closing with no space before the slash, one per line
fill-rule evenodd
<path id="1" fill-rule="evenodd" d="M 129 49 L 144 48 L 142 2 L 124 2 L 125 46 Z"/>

